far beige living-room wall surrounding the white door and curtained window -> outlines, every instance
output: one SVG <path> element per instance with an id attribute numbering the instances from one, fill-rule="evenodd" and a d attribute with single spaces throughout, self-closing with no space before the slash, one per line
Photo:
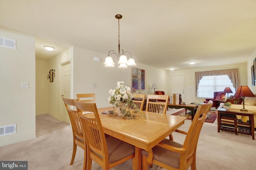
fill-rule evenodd
<path id="1" fill-rule="evenodd" d="M 223 70 L 223 69 L 231 69 L 238 68 L 239 76 L 240 76 L 240 85 L 247 85 L 247 64 L 239 63 L 239 64 L 228 64 L 222 66 L 211 66 L 211 67 L 200 67 L 200 68 L 191 68 L 191 69 L 183 69 L 183 70 L 170 70 L 169 71 L 169 86 L 170 86 L 170 76 L 185 76 L 185 98 L 186 103 L 191 102 L 204 102 L 205 98 L 196 98 L 195 97 L 195 72 L 198 71 L 208 71 L 208 70 Z M 188 88 L 192 86 L 192 88 Z"/>

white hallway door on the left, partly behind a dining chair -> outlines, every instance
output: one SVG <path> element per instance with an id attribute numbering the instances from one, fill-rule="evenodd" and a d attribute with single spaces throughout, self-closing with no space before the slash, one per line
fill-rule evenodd
<path id="1" fill-rule="evenodd" d="M 61 97 L 70 99 L 70 80 L 71 80 L 71 67 L 70 63 L 62 65 L 62 95 Z M 62 101 L 63 103 L 63 101 Z M 67 109 L 64 103 L 61 105 L 62 121 L 70 124 Z"/>

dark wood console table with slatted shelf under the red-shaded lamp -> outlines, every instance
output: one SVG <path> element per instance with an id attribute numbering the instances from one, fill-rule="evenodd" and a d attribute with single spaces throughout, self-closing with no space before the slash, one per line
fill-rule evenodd
<path id="1" fill-rule="evenodd" d="M 241 119 L 237 119 L 236 115 L 248 116 L 249 121 L 244 123 Z M 223 119 L 233 120 L 234 122 Z M 218 132 L 220 130 L 234 132 L 236 134 L 252 135 L 252 139 L 254 140 L 254 113 L 252 111 L 220 108 L 218 109 Z"/>

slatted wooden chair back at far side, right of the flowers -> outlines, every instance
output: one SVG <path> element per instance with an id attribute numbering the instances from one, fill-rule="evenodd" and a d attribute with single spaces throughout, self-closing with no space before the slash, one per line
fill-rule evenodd
<path id="1" fill-rule="evenodd" d="M 164 100 L 165 102 L 158 102 L 158 100 Z M 168 105 L 169 96 L 168 95 L 152 95 L 147 96 L 146 111 L 154 113 L 166 114 L 166 109 Z"/>

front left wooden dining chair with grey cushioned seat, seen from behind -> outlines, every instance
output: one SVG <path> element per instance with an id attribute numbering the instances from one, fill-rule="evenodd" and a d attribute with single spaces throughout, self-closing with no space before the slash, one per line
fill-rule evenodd
<path id="1" fill-rule="evenodd" d="M 112 136 L 106 138 L 95 103 L 74 101 L 81 119 L 84 141 L 87 146 L 87 168 L 92 167 L 92 160 L 104 170 L 108 170 L 135 156 L 135 147 Z M 93 112 L 86 116 L 82 111 Z M 90 114 L 91 115 L 91 114 Z M 107 115 L 106 115 L 107 116 Z"/>

